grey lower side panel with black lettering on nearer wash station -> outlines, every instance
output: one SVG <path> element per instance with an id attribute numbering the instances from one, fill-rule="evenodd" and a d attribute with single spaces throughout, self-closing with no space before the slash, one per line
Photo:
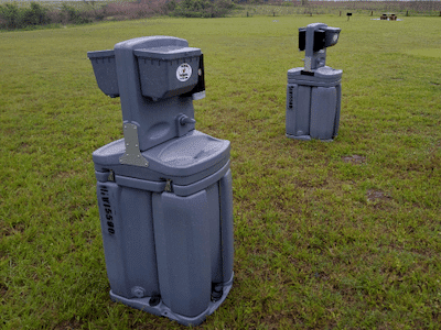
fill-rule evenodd
<path id="1" fill-rule="evenodd" d="M 126 298 L 159 293 L 151 193 L 97 184 L 107 275 Z"/>

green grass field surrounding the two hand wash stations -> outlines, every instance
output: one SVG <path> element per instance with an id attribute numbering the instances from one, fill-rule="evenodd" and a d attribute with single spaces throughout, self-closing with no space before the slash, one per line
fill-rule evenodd
<path id="1" fill-rule="evenodd" d="M 284 136 L 298 28 L 342 29 L 334 142 Z M 202 48 L 196 129 L 232 142 L 235 284 L 201 329 L 440 329 L 441 18 L 152 19 L 0 34 L 0 328 L 181 329 L 111 302 L 92 152 L 122 138 L 87 51 Z"/>

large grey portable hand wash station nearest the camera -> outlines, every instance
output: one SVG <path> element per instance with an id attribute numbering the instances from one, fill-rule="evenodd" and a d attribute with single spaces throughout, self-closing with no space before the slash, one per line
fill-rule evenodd
<path id="1" fill-rule="evenodd" d="M 229 142 L 194 129 L 203 54 L 148 36 L 87 56 L 123 120 L 125 138 L 93 153 L 110 297 L 198 324 L 234 276 Z"/>

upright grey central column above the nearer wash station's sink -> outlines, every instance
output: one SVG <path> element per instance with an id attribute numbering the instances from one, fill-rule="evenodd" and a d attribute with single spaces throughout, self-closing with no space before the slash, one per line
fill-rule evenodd
<path id="1" fill-rule="evenodd" d="M 164 141 L 182 134 L 176 129 L 176 117 L 185 114 L 194 118 L 192 97 L 170 97 L 165 99 L 148 98 L 150 95 L 141 87 L 146 82 L 141 76 L 144 74 L 133 52 L 137 50 L 158 47 L 187 47 L 185 40 L 171 36 L 146 36 L 128 40 L 115 45 L 119 94 L 121 97 L 122 120 L 125 123 L 138 125 L 139 150 L 146 151 Z M 151 76 L 149 76 L 151 77 Z M 154 90 L 164 90 L 164 81 L 157 80 L 154 76 Z M 197 78 L 197 76 L 196 76 Z M 176 79 L 176 78 L 175 78 Z M 197 82 L 197 81 L 196 81 Z M 155 91 L 152 94 L 155 95 Z M 186 132 L 194 130 L 194 124 L 183 125 Z"/>

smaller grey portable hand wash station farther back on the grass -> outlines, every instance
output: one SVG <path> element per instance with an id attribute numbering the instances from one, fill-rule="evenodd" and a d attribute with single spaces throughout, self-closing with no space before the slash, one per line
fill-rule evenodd
<path id="1" fill-rule="evenodd" d="M 288 138 L 332 141 L 337 135 L 343 72 L 325 66 L 325 62 L 326 47 L 337 43 L 340 31 L 323 23 L 299 29 L 304 67 L 288 70 Z"/>

